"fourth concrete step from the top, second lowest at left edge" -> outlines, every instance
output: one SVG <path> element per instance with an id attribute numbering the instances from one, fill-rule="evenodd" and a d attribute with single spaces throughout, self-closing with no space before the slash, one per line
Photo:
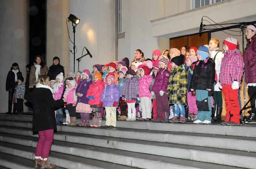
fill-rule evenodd
<path id="1" fill-rule="evenodd" d="M 34 160 L 36 148 L 22 146 L 17 144 L 9 144 L 0 142 L 0 152 L 12 154 L 14 156 Z M 78 156 L 73 156 L 64 153 L 58 153 L 51 151 L 49 159 L 52 164 L 56 164 L 57 166 L 64 167 L 64 168 L 109 168 L 109 169 L 130 169 L 131 167 L 124 166 L 124 165 L 117 165 L 108 162 L 93 160 L 90 158 L 82 158 Z M 32 165 L 33 166 L 33 165 Z"/>

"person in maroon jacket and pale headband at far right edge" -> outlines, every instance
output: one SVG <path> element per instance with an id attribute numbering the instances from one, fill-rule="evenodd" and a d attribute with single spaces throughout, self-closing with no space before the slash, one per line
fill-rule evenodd
<path id="1" fill-rule="evenodd" d="M 245 49 L 245 82 L 247 83 L 248 95 L 251 105 L 255 105 L 256 96 L 252 97 L 256 92 L 256 26 L 249 25 L 245 28 L 245 36 L 249 39 Z M 252 107 L 252 111 L 248 120 L 256 120 L 256 109 Z"/>

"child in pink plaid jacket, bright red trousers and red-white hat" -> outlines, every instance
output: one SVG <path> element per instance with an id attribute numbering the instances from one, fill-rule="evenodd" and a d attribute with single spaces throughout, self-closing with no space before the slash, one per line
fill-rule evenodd
<path id="1" fill-rule="evenodd" d="M 221 60 L 220 85 L 225 95 L 226 120 L 221 125 L 240 125 L 238 89 L 244 72 L 244 60 L 235 38 L 223 41 L 224 58 Z"/>

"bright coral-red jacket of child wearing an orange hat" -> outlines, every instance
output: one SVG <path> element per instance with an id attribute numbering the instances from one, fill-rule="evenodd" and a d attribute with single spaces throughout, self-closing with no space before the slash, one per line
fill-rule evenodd
<path id="1" fill-rule="evenodd" d="M 93 81 L 92 84 L 90 84 L 90 87 L 87 90 L 86 97 L 88 98 L 88 96 L 91 96 L 91 97 L 94 96 L 94 99 L 90 99 L 88 101 L 88 104 L 90 105 L 100 104 L 100 96 L 103 88 L 104 88 L 104 83 L 101 80 L 96 81 L 96 83 Z"/>

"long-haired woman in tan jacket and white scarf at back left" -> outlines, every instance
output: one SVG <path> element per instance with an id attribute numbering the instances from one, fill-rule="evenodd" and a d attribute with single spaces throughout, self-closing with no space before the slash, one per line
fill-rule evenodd
<path id="1" fill-rule="evenodd" d="M 29 88 L 36 86 L 36 81 L 39 75 L 47 75 L 48 67 L 40 55 L 37 55 L 34 60 L 34 65 L 30 69 L 29 74 Z"/>

